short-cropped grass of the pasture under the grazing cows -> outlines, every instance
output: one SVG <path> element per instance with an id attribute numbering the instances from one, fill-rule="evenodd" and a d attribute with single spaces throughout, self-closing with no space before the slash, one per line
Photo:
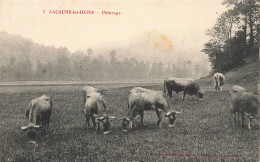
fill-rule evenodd
<path id="1" fill-rule="evenodd" d="M 103 85 L 105 87 L 105 85 Z M 162 85 L 142 87 L 163 90 Z M 155 112 L 145 112 L 144 128 L 125 133 L 121 121 L 112 122 L 108 135 L 87 129 L 80 87 L 30 87 L 19 93 L 0 94 L 1 161 L 258 161 L 259 125 L 247 130 L 233 125 L 228 89 L 217 93 L 204 86 L 200 101 L 174 94 L 175 127 L 163 118 L 156 127 Z M 108 114 L 123 117 L 131 87 L 113 87 L 103 92 Z M 254 87 L 249 87 L 254 89 Z M 30 100 L 42 94 L 53 97 L 50 129 L 38 134 L 37 145 L 28 142 L 20 126 L 28 124 L 25 111 Z M 138 121 L 140 123 L 140 121 Z"/>

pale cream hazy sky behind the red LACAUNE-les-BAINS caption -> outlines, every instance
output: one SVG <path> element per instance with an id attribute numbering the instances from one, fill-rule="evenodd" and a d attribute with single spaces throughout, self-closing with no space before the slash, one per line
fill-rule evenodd
<path id="1" fill-rule="evenodd" d="M 218 14 L 225 10 L 221 1 L 0 0 L 0 30 L 47 46 L 65 46 L 72 52 L 124 48 L 139 41 L 169 52 L 176 49 L 199 52 L 207 41 L 206 30 L 213 27 Z M 95 13 L 50 14 L 49 10 Z M 102 15 L 102 11 L 120 15 Z"/>

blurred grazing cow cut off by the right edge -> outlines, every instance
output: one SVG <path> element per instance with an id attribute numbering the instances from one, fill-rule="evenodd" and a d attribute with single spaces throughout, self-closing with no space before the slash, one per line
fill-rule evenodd
<path id="1" fill-rule="evenodd" d="M 241 115 L 242 127 L 245 127 L 244 120 L 246 116 L 249 119 L 248 129 L 251 129 L 252 119 L 258 118 L 259 101 L 257 97 L 240 86 L 233 86 L 230 93 L 231 115 L 234 116 L 234 124 L 236 124 L 236 116 L 239 122 L 239 115 Z"/>

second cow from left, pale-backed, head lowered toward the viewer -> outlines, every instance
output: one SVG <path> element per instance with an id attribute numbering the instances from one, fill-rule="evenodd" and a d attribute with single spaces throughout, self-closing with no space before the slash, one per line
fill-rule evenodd
<path id="1" fill-rule="evenodd" d="M 107 116 L 106 104 L 103 96 L 96 88 L 90 86 L 83 87 L 87 127 L 90 127 L 90 118 L 96 131 L 103 130 L 104 134 L 110 132 L 110 119 L 116 117 Z"/>

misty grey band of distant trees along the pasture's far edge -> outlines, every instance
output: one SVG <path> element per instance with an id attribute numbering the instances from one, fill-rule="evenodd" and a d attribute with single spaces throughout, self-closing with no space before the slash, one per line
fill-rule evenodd
<path id="1" fill-rule="evenodd" d="M 91 48 L 72 53 L 65 47 L 46 47 L 7 33 L 0 33 L 0 55 L 0 81 L 198 78 L 208 74 L 205 66 L 182 58 L 168 65 L 137 58 L 119 60 L 112 50 L 105 59 L 96 57 Z"/>

